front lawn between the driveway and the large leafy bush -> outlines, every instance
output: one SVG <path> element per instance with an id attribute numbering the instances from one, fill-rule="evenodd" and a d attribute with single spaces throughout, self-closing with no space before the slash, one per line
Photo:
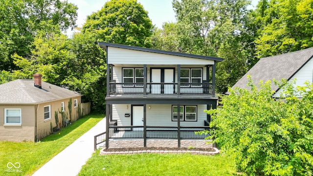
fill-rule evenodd
<path id="1" fill-rule="evenodd" d="M 97 150 L 79 176 L 233 176 L 234 158 L 195 154 L 110 154 Z"/>

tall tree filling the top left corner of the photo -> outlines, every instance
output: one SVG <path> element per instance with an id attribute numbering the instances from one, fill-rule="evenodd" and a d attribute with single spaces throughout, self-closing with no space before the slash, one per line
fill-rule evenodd
<path id="1" fill-rule="evenodd" d="M 77 9 L 74 4 L 61 0 L 1 0 L 0 69 L 17 69 L 11 55 L 29 57 L 39 31 L 73 28 Z"/>

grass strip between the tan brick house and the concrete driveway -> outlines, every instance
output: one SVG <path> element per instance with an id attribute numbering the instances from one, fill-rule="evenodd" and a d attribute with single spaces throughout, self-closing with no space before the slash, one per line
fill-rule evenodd
<path id="1" fill-rule="evenodd" d="M 102 114 L 89 114 L 60 132 L 43 138 L 40 142 L 0 141 L 0 176 L 33 174 L 53 156 L 89 131 L 103 116 Z M 22 172 L 8 172 L 8 162 L 19 162 L 21 164 L 19 169 L 20 171 L 22 169 Z"/>

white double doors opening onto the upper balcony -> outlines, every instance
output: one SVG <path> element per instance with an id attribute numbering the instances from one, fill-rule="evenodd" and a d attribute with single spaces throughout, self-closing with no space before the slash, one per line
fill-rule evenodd
<path id="1" fill-rule="evenodd" d="M 151 69 L 151 93 L 152 94 L 173 94 L 174 84 L 174 68 L 152 68 Z"/>

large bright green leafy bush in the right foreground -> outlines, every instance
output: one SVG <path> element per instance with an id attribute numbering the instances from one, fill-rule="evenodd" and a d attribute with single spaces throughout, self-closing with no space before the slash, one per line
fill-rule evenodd
<path id="1" fill-rule="evenodd" d="M 230 88 L 221 109 L 206 111 L 209 138 L 235 155 L 237 169 L 247 175 L 312 175 L 313 84 L 295 88 L 282 81 L 282 101 L 271 97 L 271 81 L 258 89 L 248 79 L 251 90 Z"/>

